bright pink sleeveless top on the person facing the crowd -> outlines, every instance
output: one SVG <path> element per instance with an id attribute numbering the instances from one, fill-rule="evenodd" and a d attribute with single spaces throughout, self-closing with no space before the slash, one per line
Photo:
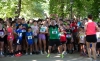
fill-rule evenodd
<path id="1" fill-rule="evenodd" d="M 89 21 L 86 25 L 86 35 L 95 35 L 96 34 L 96 24 L 95 22 Z"/>

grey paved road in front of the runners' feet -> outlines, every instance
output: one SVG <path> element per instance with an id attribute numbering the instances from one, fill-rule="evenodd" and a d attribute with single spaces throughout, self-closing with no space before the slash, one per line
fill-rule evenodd
<path id="1" fill-rule="evenodd" d="M 3 57 L 0 61 L 89 61 L 87 57 L 76 54 L 67 54 L 62 59 L 58 54 L 51 54 L 50 58 L 46 58 L 46 55 L 24 55 L 22 57 Z M 98 58 L 100 61 L 100 57 Z"/>

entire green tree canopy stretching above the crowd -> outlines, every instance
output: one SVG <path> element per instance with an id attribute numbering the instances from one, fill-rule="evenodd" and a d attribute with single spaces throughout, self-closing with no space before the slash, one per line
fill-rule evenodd
<path id="1" fill-rule="evenodd" d="M 58 14 L 59 17 L 70 18 L 71 5 L 72 15 L 84 18 L 92 14 L 95 19 L 99 18 L 100 0 L 20 0 L 20 17 L 45 18 L 47 14 Z M 73 4 L 71 4 L 71 1 Z M 0 0 L 0 17 L 15 17 L 19 0 Z"/>

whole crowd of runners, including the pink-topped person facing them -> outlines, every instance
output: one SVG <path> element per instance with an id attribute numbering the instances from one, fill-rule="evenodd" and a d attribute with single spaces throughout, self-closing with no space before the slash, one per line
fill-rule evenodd
<path id="1" fill-rule="evenodd" d="M 80 52 L 80 56 L 100 55 L 99 22 L 92 15 L 80 20 L 60 19 L 52 14 L 46 19 L 24 18 L 3 20 L 0 18 L 0 56 L 22 56 L 58 53 L 61 58 L 67 53 Z M 92 52 L 92 54 L 91 54 Z"/>

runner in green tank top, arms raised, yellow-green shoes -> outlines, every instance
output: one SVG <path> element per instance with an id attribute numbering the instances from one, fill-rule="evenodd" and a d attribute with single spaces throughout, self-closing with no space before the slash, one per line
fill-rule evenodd
<path id="1" fill-rule="evenodd" d="M 57 19 L 57 21 L 59 21 L 59 20 Z M 47 57 L 50 57 L 51 48 L 56 44 L 56 46 L 58 46 L 58 48 L 59 48 L 58 51 L 60 52 L 61 58 L 64 58 L 62 51 L 61 51 L 62 46 L 61 46 L 61 43 L 59 40 L 59 26 L 58 26 L 58 24 L 56 24 L 55 20 L 51 20 L 51 24 L 49 22 L 48 33 L 49 33 L 49 47 L 48 47 Z"/>

